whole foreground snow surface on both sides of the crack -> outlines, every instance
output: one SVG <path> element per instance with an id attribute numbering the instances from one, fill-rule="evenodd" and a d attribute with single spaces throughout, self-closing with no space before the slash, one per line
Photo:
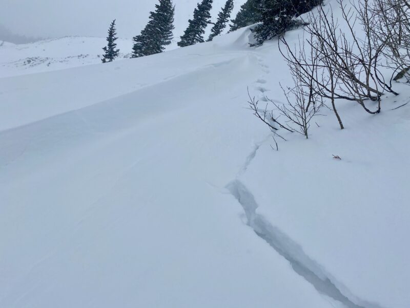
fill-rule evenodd
<path id="1" fill-rule="evenodd" d="M 0 307 L 410 306 L 410 87 L 276 151 L 249 35 L 0 79 Z"/>

